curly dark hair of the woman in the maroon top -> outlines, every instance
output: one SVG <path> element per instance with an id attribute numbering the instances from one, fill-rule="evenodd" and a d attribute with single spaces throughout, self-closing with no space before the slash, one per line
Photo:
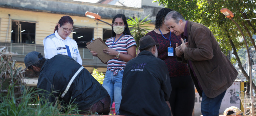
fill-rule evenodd
<path id="1" fill-rule="evenodd" d="M 171 12 L 172 9 L 170 8 L 162 8 L 158 11 L 156 17 L 155 17 L 155 28 L 160 28 L 160 26 L 163 25 L 163 21 L 165 20 L 165 16 Z"/>

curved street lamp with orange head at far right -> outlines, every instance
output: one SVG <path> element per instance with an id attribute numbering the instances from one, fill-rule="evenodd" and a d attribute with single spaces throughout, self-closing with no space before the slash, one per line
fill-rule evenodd
<path id="1" fill-rule="evenodd" d="M 228 10 L 228 8 L 221 8 L 221 12 L 229 19 L 231 19 L 235 25 L 238 27 L 239 31 L 241 32 L 243 38 L 244 38 L 244 44 L 246 46 L 246 49 L 247 49 L 247 54 L 248 54 L 248 65 L 249 65 L 249 76 L 250 76 L 250 93 L 251 93 L 251 115 L 254 116 L 254 97 L 253 97 L 253 93 L 252 93 L 252 72 L 251 72 L 251 59 L 250 59 L 250 53 L 249 53 L 249 48 L 247 46 L 247 42 L 246 42 L 246 39 L 244 37 L 244 33 L 243 31 L 241 30 L 240 26 L 234 21 L 233 17 L 234 17 L 234 14 Z M 246 109 L 244 109 L 246 110 Z"/>

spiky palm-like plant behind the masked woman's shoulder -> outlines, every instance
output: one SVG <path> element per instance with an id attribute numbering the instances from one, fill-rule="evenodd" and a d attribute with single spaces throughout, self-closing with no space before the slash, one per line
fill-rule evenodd
<path id="1" fill-rule="evenodd" d="M 137 48 L 140 45 L 140 43 L 139 43 L 140 38 L 142 38 L 143 36 L 145 36 L 148 33 L 147 30 L 149 30 L 149 28 L 147 26 L 142 26 L 142 25 L 149 24 L 149 22 L 151 21 L 151 20 L 148 20 L 148 21 L 144 22 L 144 20 L 146 18 L 148 18 L 148 16 L 145 17 L 144 19 L 142 19 L 141 21 L 140 21 L 141 16 L 139 18 L 136 16 L 135 19 L 133 19 L 131 17 L 130 17 L 131 19 L 127 19 L 129 28 L 131 28 L 131 35 L 133 36 L 133 38 L 136 41 Z"/>

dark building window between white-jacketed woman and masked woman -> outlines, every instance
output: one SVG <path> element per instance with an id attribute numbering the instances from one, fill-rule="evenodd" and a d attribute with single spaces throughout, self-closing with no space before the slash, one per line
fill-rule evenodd
<path id="1" fill-rule="evenodd" d="M 86 48 L 86 43 L 93 38 L 93 28 L 73 27 L 73 39 L 76 41 L 78 48 Z"/>

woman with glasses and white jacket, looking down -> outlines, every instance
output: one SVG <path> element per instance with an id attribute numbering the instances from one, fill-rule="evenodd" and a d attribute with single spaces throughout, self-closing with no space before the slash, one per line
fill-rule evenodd
<path id="1" fill-rule="evenodd" d="M 55 26 L 54 33 L 48 35 L 43 40 L 46 59 L 62 54 L 68 55 L 82 65 L 77 43 L 75 40 L 68 37 L 70 33 L 73 32 L 73 24 L 73 19 L 70 16 L 63 16 Z"/>

